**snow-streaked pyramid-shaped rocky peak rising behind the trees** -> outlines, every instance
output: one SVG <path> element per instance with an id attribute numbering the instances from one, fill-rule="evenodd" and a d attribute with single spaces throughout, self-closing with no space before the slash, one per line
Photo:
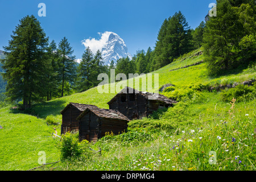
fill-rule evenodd
<path id="1" fill-rule="evenodd" d="M 102 61 L 105 65 L 109 65 L 113 60 L 117 63 L 117 60 L 122 57 L 129 57 L 131 59 L 131 54 L 128 52 L 127 46 L 122 38 L 120 38 L 114 32 L 109 34 L 109 39 L 105 46 L 102 48 Z"/>

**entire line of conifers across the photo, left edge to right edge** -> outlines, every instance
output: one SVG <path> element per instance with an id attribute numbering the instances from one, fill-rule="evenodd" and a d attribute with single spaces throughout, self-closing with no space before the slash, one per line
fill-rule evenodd
<path id="1" fill-rule="evenodd" d="M 155 47 L 138 50 L 130 60 L 123 57 L 110 65 L 102 63 L 100 50 L 95 55 L 89 47 L 80 63 L 73 56 L 67 38 L 59 44 L 49 43 L 34 15 L 19 21 L 4 47 L 1 60 L 6 96 L 23 101 L 24 109 L 97 86 L 100 73 L 115 69 L 115 74 L 149 73 L 175 61 L 184 53 L 203 47 L 209 74 L 218 75 L 241 64 L 255 64 L 256 9 L 253 0 L 217 0 L 217 16 L 201 22 L 193 30 L 181 11 L 165 19 L 159 29 Z"/>

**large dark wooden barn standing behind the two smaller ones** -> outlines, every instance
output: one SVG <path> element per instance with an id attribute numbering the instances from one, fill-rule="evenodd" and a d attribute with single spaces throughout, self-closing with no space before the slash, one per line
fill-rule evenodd
<path id="1" fill-rule="evenodd" d="M 161 107 L 170 107 L 176 103 L 162 94 L 155 98 L 153 96 L 154 93 L 141 92 L 126 86 L 108 102 L 108 105 L 109 109 L 118 110 L 132 120 L 147 117 Z"/>

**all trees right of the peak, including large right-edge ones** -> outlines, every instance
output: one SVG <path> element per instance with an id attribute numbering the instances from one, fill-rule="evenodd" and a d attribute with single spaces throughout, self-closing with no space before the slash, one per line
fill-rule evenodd
<path id="1" fill-rule="evenodd" d="M 181 11 L 165 19 L 154 50 L 137 51 L 129 61 L 117 61 L 115 73 L 148 73 L 172 63 L 177 57 L 202 47 L 209 75 L 256 60 L 256 8 L 253 0 L 217 0 L 217 16 L 208 17 L 193 30 Z"/>

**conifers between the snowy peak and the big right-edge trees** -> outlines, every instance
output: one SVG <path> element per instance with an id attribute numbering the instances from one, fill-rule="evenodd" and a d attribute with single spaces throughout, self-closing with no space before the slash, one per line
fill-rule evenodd
<path id="1" fill-rule="evenodd" d="M 148 47 L 147 51 L 138 50 L 131 60 L 117 60 L 115 73 L 141 74 L 162 68 L 184 53 L 200 48 L 204 29 L 204 22 L 195 30 L 191 29 L 181 11 L 176 12 L 162 23 L 154 49 Z"/>

